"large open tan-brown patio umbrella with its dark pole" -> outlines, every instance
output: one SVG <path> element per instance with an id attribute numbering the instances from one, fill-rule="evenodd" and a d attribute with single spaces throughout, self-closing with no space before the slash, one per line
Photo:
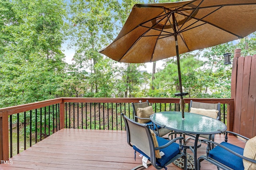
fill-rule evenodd
<path id="1" fill-rule="evenodd" d="M 256 31 L 256 0 L 188 0 L 135 4 L 116 39 L 100 53 L 125 63 L 177 56 L 180 104 L 184 118 L 179 54 L 243 38 Z"/>

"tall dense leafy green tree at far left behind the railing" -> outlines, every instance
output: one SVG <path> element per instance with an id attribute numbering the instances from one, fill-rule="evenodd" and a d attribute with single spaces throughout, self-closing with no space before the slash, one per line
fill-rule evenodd
<path id="1" fill-rule="evenodd" d="M 10 41 L 5 41 L 0 61 L 0 106 L 57 97 L 66 67 L 60 51 L 65 5 L 58 0 L 14 0 L 8 9 L 1 36 Z"/>

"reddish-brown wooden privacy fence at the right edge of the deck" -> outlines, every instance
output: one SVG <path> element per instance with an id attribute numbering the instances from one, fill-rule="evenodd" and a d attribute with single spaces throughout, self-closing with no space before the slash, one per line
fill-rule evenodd
<path id="1" fill-rule="evenodd" d="M 231 77 L 234 99 L 233 131 L 248 138 L 256 136 L 256 55 L 241 57 L 236 49 Z"/>

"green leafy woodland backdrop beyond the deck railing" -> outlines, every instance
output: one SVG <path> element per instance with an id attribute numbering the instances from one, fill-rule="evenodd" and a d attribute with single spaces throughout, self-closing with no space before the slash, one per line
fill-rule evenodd
<path id="1" fill-rule="evenodd" d="M 0 107 L 55 97 L 174 97 L 175 57 L 164 60 L 152 81 L 140 71 L 144 64 L 117 64 L 98 53 L 120 32 L 132 6 L 144 2 L 166 1 L 1 0 Z M 242 55 L 253 55 L 255 37 L 181 55 L 189 97 L 230 97 L 231 65 L 223 65 L 223 54 L 241 48 Z M 61 51 L 66 40 L 75 50 L 70 65 Z"/>

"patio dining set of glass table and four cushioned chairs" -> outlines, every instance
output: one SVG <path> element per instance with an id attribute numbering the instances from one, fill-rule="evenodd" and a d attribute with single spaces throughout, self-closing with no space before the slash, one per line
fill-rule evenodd
<path id="1" fill-rule="evenodd" d="M 142 156 L 142 165 L 134 169 L 154 166 L 166 168 L 174 163 L 180 168 L 200 170 L 200 163 L 206 160 L 218 170 L 256 169 L 256 137 L 246 138 L 240 134 L 227 131 L 220 119 L 220 103 L 207 104 L 190 102 L 190 113 L 164 111 L 154 113 L 149 102 L 132 103 L 134 121 L 124 114 L 127 142 Z M 202 109 L 206 108 L 206 109 Z M 225 133 L 225 141 L 214 142 L 214 134 Z M 240 136 L 246 140 L 244 148 L 228 143 L 228 134 Z M 166 137 L 167 136 L 167 137 Z M 190 136 L 185 138 L 185 136 Z M 193 140 L 194 145 L 187 144 Z M 183 142 L 182 142 L 183 141 Z M 207 144 L 206 154 L 197 158 L 197 148 L 201 142 Z M 194 156 L 186 153 L 190 149 Z M 192 157 L 194 159 L 189 159 Z M 135 154 L 136 159 L 136 154 Z M 148 163 L 148 160 L 150 161 Z M 178 163 L 177 163 L 178 161 Z M 194 161 L 194 162 L 193 162 Z M 192 165 L 192 166 L 191 166 Z"/>

